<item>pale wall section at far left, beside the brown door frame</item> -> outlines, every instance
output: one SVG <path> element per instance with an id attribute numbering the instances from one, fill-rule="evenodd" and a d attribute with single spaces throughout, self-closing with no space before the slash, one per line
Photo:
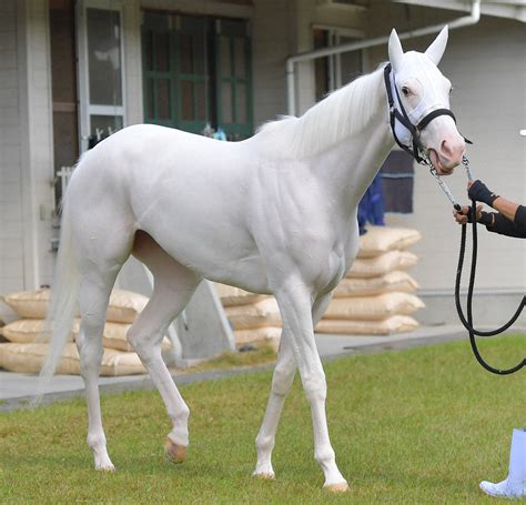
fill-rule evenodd
<path id="1" fill-rule="evenodd" d="M 47 2 L 0 2 L 0 293 L 49 283 L 52 130 Z"/>

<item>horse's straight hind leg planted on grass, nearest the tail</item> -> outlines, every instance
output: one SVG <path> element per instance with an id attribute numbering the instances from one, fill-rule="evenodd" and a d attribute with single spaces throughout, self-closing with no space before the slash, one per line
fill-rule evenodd
<path id="1" fill-rule="evenodd" d="M 79 190 L 79 186 L 73 189 Z M 132 220 L 127 219 L 115 200 L 100 199 L 90 208 L 87 199 L 80 199 L 75 193 L 70 193 L 71 198 L 70 201 L 83 203 L 71 206 L 71 225 L 80 273 L 81 325 L 77 347 L 88 402 L 88 445 L 93 452 L 95 469 L 113 471 L 99 397 L 102 334 L 110 293 L 122 264 L 130 256 L 134 230 Z"/>

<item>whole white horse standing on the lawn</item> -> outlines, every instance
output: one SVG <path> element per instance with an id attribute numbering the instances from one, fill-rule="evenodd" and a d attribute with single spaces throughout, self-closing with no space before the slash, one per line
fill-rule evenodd
<path id="1" fill-rule="evenodd" d="M 396 32 L 391 34 L 393 78 L 415 124 L 429 111 L 449 107 L 451 82 L 436 67 L 446 42 L 444 29 L 425 53 L 404 53 Z M 407 131 L 396 128 L 407 142 Z M 452 172 L 465 149 L 446 115 L 431 121 L 421 143 L 442 174 Z M 243 142 L 141 124 L 82 156 L 65 195 L 50 310 L 53 337 L 42 376 L 49 378 L 55 370 L 78 303 L 88 444 L 97 469 L 114 469 L 99 401 L 101 334 L 115 277 L 133 254 L 151 270 L 154 290 L 128 339 L 173 423 L 168 455 L 184 459 L 190 411 L 160 344 L 200 281 L 209 279 L 273 294 L 283 319 L 272 390 L 255 441 L 254 475 L 274 477 L 274 436 L 297 366 L 311 404 L 314 456 L 324 487 L 347 489 L 328 438 L 326 382 L 313 329 L 353 264 L 358 201 L 393 145 L 383 71 L 377 70 L 301 118 L 271 122 Z"/>

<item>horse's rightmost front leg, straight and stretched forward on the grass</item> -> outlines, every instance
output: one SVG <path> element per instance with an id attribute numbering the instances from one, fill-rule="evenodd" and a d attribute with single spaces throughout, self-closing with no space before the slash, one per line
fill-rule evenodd
<path id="1" fill-rule="evenodd" d="M 312 293 L 302 282 L 289 281 L 276 291 L 275 296 L 280 305 L 284 331 L 291 339 L 291 347 L 300 370 L 303 390 L 311 404 L 314 457 L 325 475 L 324 487 L 332 492 L 347 491 L 347 482 L 336 466 L 336 457 L 328 438 L 325 415 L 327 385 L 314 340 L 311 313 Z"/>

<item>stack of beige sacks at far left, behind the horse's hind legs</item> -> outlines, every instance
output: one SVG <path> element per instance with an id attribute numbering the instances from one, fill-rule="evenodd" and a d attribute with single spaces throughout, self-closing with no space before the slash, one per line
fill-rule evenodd
<path id="1" fill-rule="evenodd" d="M 50 290 L 26 291 L 3 297 L 21 319 L 0 329 L 8 343 L 0 344 L 0 367 L 11 372 L 38 373 L 49 350 L 44 320 L 50 302 Z M 148 299 L 138 293 L 114 290 L 110 296 L 107 323 L 102 337 L 104 354 L 101 375 L 117 376 L 143 374 L 145 370 L 127 340 L 127 333 Z M 73 323 L 57 373 L 80 374 L 79 355 L 73 343 L 79 334 L 80 321 Z M 165 340 L 164 346 L 169 346 Z"/>

